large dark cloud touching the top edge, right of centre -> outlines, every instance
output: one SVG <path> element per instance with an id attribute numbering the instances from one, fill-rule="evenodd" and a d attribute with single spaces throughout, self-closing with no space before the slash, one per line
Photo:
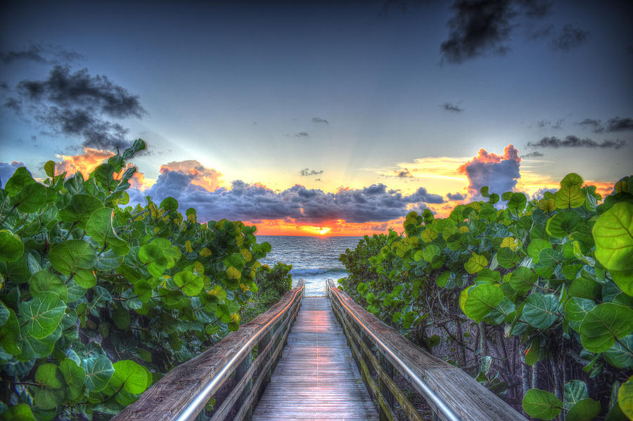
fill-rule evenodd
<path id="1" fill-rule="evenodd" d="M 503 43 L 511 30 L 510 1 L 457 0 L 452 9 L 455 15 L 447 24 L 449 38 L 440 46 L 442 60 L 462 63 L 485 53 L 503 55 L 508 51 Z"/>

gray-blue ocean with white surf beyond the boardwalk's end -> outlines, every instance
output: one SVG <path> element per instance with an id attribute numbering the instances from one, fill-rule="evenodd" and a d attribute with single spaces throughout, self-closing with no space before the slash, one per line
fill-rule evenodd
<path id="1" fill-rule="evenodd" d="M 267 241 L 271 252 L 262 264 L 274 266 L 278 261 L 293 265 L 290 274 L 293 286 L 305 279 L 305 294 L 325 295 L 326 279 L 347 276 L 345 266 L 338 260 L 345 249 L 353 249 L 361 237 L 308 237 L 289 235 L 257 235 L 257 242 Z"/>

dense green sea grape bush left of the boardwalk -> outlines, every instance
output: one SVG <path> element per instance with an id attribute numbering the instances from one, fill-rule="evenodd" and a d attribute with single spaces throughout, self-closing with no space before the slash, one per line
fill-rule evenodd
<path id="1" fill-rule="evenodd" d="M 0 190 L 0 419 L 107 418 L 238 329 L 270 245 L 172 197 L 123 209 L 145 147 Z"/>

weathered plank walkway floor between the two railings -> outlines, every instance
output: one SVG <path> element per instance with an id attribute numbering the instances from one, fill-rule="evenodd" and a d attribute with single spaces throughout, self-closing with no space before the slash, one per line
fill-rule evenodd
<path id="1" fill-rule="evenodd" d="M 378 420 L 326 297 L 303 299 L 252 420 Z"/>

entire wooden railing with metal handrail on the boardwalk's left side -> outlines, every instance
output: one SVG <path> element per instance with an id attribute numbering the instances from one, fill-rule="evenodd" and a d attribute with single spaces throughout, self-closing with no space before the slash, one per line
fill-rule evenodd
<path id="1" fill-rule="evenodd" d="M 241 326 L 202 354 L 171 370 L 113 420 L 184 421 L 250 419 L 281 356 L 304 294 L 304 281 L 265 313 Z M 257 346 L 257 357 L 253 348 Z M 229 394 L 205 416 L 206 404 L 232 379 Z M 229 384 L 227 382 L 227 384 Z"/>

